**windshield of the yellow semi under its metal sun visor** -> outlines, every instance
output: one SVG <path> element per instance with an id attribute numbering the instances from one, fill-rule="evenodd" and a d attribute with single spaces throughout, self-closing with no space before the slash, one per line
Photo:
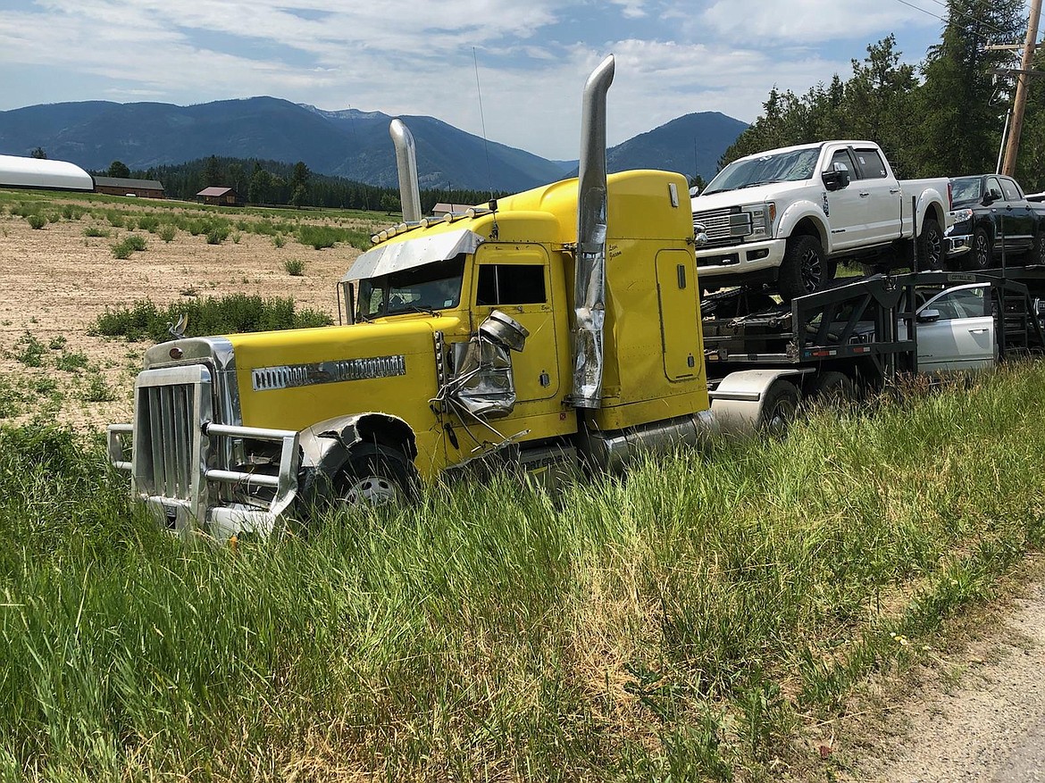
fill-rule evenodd
<path id="1" fill-rule="evenodd" d="M 369 321 L 380 315 L 457 307 L 463 279 L 461 253 L 445 261 L 361 280 L 357 312 Z"/>

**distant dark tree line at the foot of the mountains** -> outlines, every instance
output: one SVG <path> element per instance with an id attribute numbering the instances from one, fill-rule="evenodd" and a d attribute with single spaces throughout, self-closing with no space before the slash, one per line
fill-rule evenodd
<path id="1" fill-rule="evenodd" d="M 157 180 L 168 198 L 192 200 L 211 186 L 233 188 L 240 198 L 255 205 L 323 207 L 327 209 L 384 210 L 399 212 L 399 190 L 329 176 L 310 171 L 302 162 L 283 163 L 256 158 L 210 156 L 186 163 L 131 170 L 121 161 L 113 161 L 106 176 Z M 495 194 L 497 196 L 504 193 Z M 422 189 L 421 211 L 432 212 L 440 201 L 447 204 L 485 204 L 488 191 L 447 188 Z"/>

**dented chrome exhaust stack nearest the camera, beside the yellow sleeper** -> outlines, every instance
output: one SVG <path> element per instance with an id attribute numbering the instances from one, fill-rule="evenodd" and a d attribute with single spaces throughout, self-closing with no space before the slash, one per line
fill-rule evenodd
<path id="1" fill-rule="evenodd" d="M 584 85 L 577 176 L 577 254 L 574 272 L 574 385 L 570 404 L 598 408 L 602 400 L 606 321 L 606 93 L 613 81 L 610 54 Z"/>

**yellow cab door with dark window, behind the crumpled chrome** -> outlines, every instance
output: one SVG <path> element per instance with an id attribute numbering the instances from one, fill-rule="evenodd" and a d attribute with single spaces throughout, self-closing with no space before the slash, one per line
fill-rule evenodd
<path id="1" fill-rule="evenodd" d="M 521 353 L 512 354 L 512 377 L 522 412 L 543 412 L 526 410 L 526 404 L 552 400 L 560 394 L 555 307 L 561 309 L 565 304 L 554 301 L 556 287 L 548 252 L 540 244 L 485 242 L 475 252 L 472 275 L 473 324 L 501 310 L 530 332 Z M 554 408 L 559 408 L 557 400 Z"/>

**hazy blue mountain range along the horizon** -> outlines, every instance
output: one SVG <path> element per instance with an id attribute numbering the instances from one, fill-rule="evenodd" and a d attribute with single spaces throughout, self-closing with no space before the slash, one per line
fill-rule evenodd
<path id="1" fill-rule="evenodd" d="M 402 116 L 417 147 L 422 188 L 515 192 L 577 171 L 577 161 L 550 161 L 486 142 L 434 117 Z M 322 174 L 396 186 L 392 117 L 348 109 L 327 112 L 271 97 L 177 106 L 82 101 L 0 112 L 0 153 L 43 147 L 53 160 L 102 170 L 179 164 L 211 155 L 303 161 Z M 722 152 L 747 127 L 718 112 L 689 114 L 607 150 L 610 171 L 660 168 L 710 180 Z M 489 160 L 487 166 L 486 162 Z"/>

